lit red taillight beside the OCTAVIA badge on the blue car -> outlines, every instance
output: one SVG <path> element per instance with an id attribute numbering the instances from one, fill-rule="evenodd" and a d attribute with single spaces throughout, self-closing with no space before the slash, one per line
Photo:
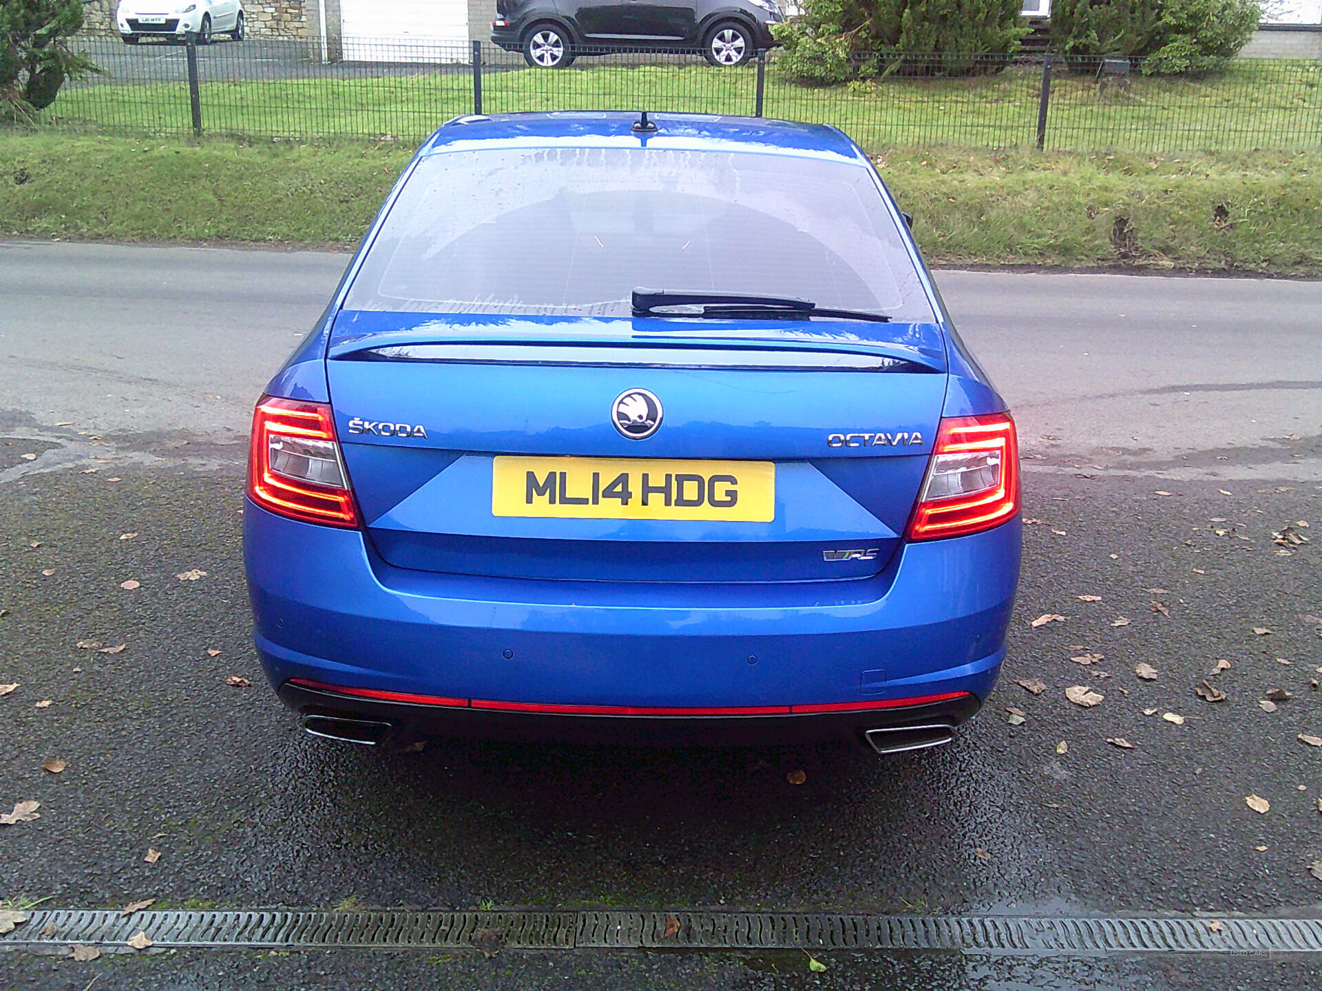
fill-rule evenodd
<path id="1" fill-rule="evenodd" d="M 1018 511 L 1019 444 L 1010 415 L 943 419 L 910 539 L 976 534 Z"/>

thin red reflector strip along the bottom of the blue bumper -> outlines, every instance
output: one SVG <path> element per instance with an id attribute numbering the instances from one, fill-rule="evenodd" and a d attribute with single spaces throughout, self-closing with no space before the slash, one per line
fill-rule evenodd
<path id="1" fill-rule="evenodd" d="M 547 702 L 492 702 L 489 699 L 451 699 L 442 695 L 414 695 L 381 688 L 350 688 L 305 678 L 291 678 L 290 684 L 313 691 L 328 691 L 373 702 L 403 702 L 410 706 L 443 708 L 476 708 L 488 712 L 539 712 L 562 716 L 802 716 L 821 712 L 867 712 L 876 708 L 927 706 L 966 696 L 966 691 L 940 695 L 917 695 L 910 699 L 876 699 L 871 702 L 828 702 L 809 706 L 559 706 Z"/>

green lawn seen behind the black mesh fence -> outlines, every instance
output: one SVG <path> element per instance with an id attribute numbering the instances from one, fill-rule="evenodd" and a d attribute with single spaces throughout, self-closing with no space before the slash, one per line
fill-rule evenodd
<path id="1" fill-rule="evenodd" d="M 227 63 L 234 67 L 237 63 Z M 969 79 L 886 78 L 809 87 L 767 73 L 771 118 L 836 124 L 870 151 L 888 145 L 1021 148 L 1035 140 L 1040 70 L 1014 66 Z M 703 65 L 510 69 L 484 77 L 484 111 L 639 110 L 754 112 L 756 71 Z M 204 82 L 202 127 L 255 137 L 391 137 L 418 141 L 473 110 L 467 73 Z M 95 79 L 66 86 L 45 114 L 99 132 L 175 135 L 192 128 L 182 82 Z M 1058 73 L 1047 148 L 1141 153 L 1322 147 L 1322 63 L 1241 59 L 1207 79 L 1132 77 L 1099 89 Z"/>

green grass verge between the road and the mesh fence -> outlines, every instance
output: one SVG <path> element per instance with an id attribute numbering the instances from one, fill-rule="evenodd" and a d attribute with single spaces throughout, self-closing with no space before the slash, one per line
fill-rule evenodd
<path id="1" fill-rule="evenodd" d="M 0 132 L 0 234 L 349 247 L 410 153 Z M 878 163 L 935 264 L 1322 275 L 1322 153 Z"/>

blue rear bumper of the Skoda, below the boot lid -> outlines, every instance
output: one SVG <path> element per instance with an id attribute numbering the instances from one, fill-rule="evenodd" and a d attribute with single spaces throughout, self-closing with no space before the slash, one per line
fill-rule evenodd
<path id="1" fill-rule="evenodd" d="M 974 536 L 907 544 L 884 572 L 857 581 L 533 581 L 394 568 L 357 530 L 299 523 L 253 503 L 245 513 L 258 654 L 287 703 L 407 704 L 328 702 L 328 692 L 309 694 L 290 684 L 295 679 L 457 699 L 394 719 L 483 735 L 522 724 L 518 732 L 534 736 L 587 727 L 608 739 L 642 729 L 672 740 L 702 736 L 689 723 L 711 723 L 719 739 L 746 729 L 756 739 L 768 729 L 779 739 L 801 729 L 839 736 L 878 719 L 929 715 L 879 703 L 968 692 L 970 702 L 943 711 L 958 721 L 999 671 L 1019 539 L 1015 519 Z M 768 711 L 598 716 L 477 710 L 469 700 Z M 859 712 L 801 711 L 845 704 Z"/>

